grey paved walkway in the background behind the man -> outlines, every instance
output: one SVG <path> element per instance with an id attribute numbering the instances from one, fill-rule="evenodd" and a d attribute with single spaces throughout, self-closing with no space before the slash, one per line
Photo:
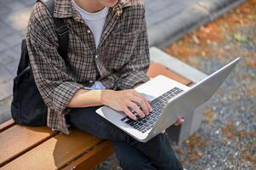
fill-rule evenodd
<path id="1" fill-rule="evenodd" d="M 9 102 L 26 34 L 31 6 L 36 0 L 0 0 L 0 122 L 9 119 Z M 147 26 L 175 17 L 198 0 L 145 0 Z M 168 8 L 167 8 L 168 7 Z"/>

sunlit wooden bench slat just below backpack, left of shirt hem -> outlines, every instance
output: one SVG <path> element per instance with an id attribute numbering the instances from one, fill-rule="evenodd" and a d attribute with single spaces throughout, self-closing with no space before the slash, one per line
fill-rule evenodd
<path id="1" fill-rule="evenodd" d="M 14 125 L 0 133 L 0 167 L 54 135 L 48 127 Z"/>

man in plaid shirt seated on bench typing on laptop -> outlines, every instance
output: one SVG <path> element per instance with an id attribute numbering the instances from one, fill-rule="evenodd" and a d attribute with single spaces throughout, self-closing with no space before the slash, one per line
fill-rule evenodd
<path id="1" fill-rule="evenodd" d="M 140 143 L 95 113 L 100 105 L 132 119 L 130 109 L 141 117 L 152 111 L 150 101 L 132 89 L 149 80 L 142 1 L 55 0 L 54 17 L 69 30 L 68 64 L 58 54 L 54 22 L 43 3 L 32 8 L 26 34 L 37 88 L 48 106 L 48 127 L 69 134 L 72 126 L 110 139 L 123 169 L 182 169 L 164 133 Z"/>

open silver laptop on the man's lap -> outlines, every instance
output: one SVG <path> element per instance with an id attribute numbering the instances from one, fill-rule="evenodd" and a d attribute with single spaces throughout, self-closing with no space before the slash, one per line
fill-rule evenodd
<path id="1" fill-rule="evenodd" d="M 164 76 L 157 76 L 143 83 L 135 90 L 151 100 L 154 111 L 144 118 L 140 118 L 134 112 L 137 116 L 136 121 L 122 111 L 115 111 L 108 106 L 102 106 L 96 112 L 134 139 L 146 142 L 174 124 L 179 116 L 185 117 L 186 114 L 191 114 L 197 107 L 211 99 L 239 59 L 234 59 L 191 88 Z M 190 120 L 185 120 L 188 121 Z"/>

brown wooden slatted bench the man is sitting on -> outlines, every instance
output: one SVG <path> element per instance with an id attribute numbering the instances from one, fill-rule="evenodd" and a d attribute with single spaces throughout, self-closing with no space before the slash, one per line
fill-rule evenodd
<path id="1" fill-rule="evenodd" d="M 185 85 L 191 81 L 151 63 L 149 77 L 165 75 Z M 114 153 L 111 142 L 72 130 L 71 135 L 48 127 L 20 126 L 9 120 L 0 125 L 0 169 L 91 169 Z"/>

